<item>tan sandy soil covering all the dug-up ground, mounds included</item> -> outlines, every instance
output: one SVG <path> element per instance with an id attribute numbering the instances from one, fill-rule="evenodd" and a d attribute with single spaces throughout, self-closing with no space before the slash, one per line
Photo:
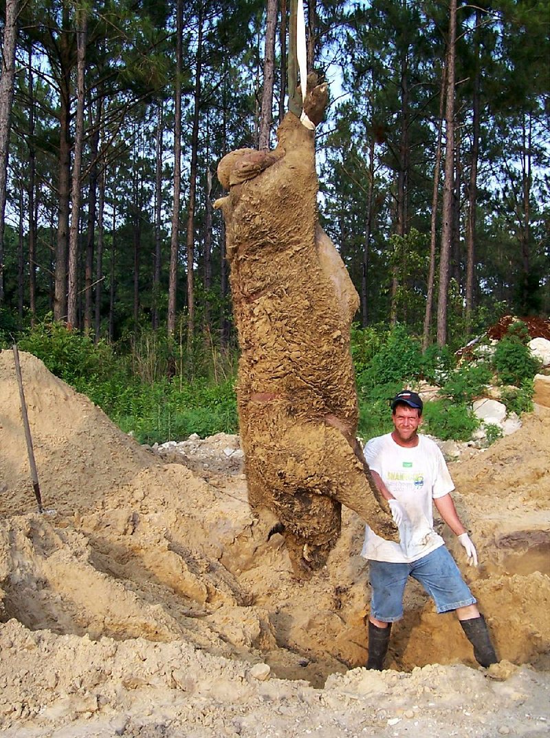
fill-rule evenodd
<path id="1" fill-rule="evenodd" d="M 251 515 L 236 436 L 164 455 L 21 354 L 46 511 L 0 352 L 0 731 L 18 738 L 521 737 L 550 721 L 550 410 L 450 465 L 500 664 L 409 584 L 368 672 L 361 521 L 293 578 Z"/>

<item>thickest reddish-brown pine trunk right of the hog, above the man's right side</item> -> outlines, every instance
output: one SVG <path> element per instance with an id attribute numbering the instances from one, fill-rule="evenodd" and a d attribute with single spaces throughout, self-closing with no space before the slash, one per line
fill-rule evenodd
<path id="1" fill-rule="evenodd" d="M 449 0 L 447 90 L 445 100 L 445 182 L 443 185 L 441 256 L 439 258 L 439 294 L 437 300 L 437 344 L 439 346 L 444 346 L 447 342 L 447 301 L 451 240 L 453 238 L 455 44 L 456 0 Z"/>

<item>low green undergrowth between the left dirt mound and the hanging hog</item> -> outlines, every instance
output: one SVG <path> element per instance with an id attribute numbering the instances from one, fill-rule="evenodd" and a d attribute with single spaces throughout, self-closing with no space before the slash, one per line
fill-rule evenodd
<path id="1" fill-rule="evenodd" d="M 104 342 L 94 344 L 80 331 L 60 323 L 41 323 L 18 343 L 42 359 L 56 376 L 86 394 L 139 443 L 181 440 L 191 433 L 206 436 L 237 432 L 234 379 L 212 383 L 207 377 L 167 378 L 167 339 L 142 331 L 128 342 L 129 353 L 117 356 Z"/>

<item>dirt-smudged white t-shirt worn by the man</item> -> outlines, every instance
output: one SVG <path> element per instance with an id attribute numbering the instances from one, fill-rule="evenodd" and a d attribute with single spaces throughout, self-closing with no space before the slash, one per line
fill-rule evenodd
<path id="1" fill-rule="evenodd" d="M 399 526 L 400 543 L 386 541 L 369 526 L 361 556 L 373 561 L 411 563 L 444 544 L 434 531 L 432 500 L 454 489 L 439 446 L 425 435 L 418 445 L 403 448 L 391 433 L 372 438 L 365 449 L 366 463 L 377 472 L 405 513 Z"/>

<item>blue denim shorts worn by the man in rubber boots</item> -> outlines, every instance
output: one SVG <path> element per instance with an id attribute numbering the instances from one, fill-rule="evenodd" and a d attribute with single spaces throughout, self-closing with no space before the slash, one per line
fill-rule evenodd
<path id="1" fill-rule="evenodd" d="M 371 615 L 383 623 L 403 618 L 403 593 L 408 576 L 417 579 L 434 600 L 438 613 L 475 604 L 453 556 L 439 546 L 410 564 L 369 561 Z"/>

